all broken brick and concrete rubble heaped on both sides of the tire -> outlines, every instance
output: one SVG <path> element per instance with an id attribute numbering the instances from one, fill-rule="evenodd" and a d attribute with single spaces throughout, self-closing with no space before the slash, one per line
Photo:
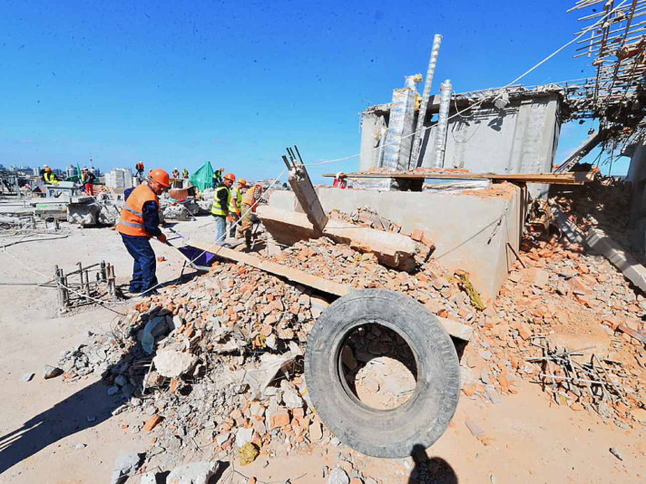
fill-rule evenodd
<path id="1" fill-rule="evenodd" d="M 618 321 L 641 329 L 646 301 L 603 257 L 554 240 L 526 243 L 500 296 L 483 310 L 465 292 L 464 274 L 460 279 L 434 260 L 408 274 L 325 237 L 299 242 L 272 259 L 355 288 L 402 292 L 438 316 L 479 328 L 462 358 L 468 398 L 495 404 L 501 394 L 516 393 L 523 378 L 539 381 L 546 395 L 573 410 L 595 410 L 628 427 L 644 419 L 641 343 L 614 330 Z M 123 399 L 113 413 L 140 412 L 133 430 L 151 434 L 149 469 L 170 469 L 178 456 L 189 454 L 209 461 L 237 454 L 242 462 L 320 454 L 339 441 L 309 404 L 302 355 L 327 306 L 307 288 L 256 268 L 216 263 L 208 274 L 136 303 L 111 334 L 92 335 L 61 355 L 59 365 L 67 379 L 103 372 L 108 394 Z M 541 378 L 545 368 L 533 361 L 545 354 L 546 341 L 553 348 L 562 333 L 570 341 L 614 338 L 609 347 L 595 349 L 609 380 L 605 398 L 577 392 L 565 379 Z M 344 363 L 350 370 L 348 361 L 364 361 L 363 353 L 380 354 L 370 345 L 349 347 Z M 561 345 L 561 351 L 579 348 Z M 576 352 L 571 357 L 579 358 Z M 377 482 L 349 467 L 348 479 Z"/>

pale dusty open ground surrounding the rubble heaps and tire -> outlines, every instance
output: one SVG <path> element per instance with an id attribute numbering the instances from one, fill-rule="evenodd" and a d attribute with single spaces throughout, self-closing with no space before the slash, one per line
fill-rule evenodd
<path id="1" fill-rule="evenodd" d="M 180 232 L 213 233 L 209 218 L 180 223 Z M 118 282 L 129 278 L 131 259 L 116 232 L 107 228 L 70 230 L 70 236 L 19 243 L 0 252 L 0 482 L 72 484 L 106 482 L 117 456 L 143 452 L 150 438 L 132 433 L 132 424 L 143 419 L 135 412 L 111 416 L 115 405 L 98 376 L 64 383 L 43 379 L 43 365 L 56 365 L 59 354 L 83 343 L 87 332 L 109 330 L 118 316 L 106 308 L 87 308 L 56 317 L 56 292 L 50 288 L 12 286 L 8 283 L 46 281 L 57 264 L 74 270 L 106 260 L 114 264 Z M 43 236 L 46 238 L 48 236 Z M 35 238 L 35 237 L 34 237 Z M 3 237 L 0 245 L 16 241 Z M 155 243 L 160 281 L 179 276 L 180 257 Z M 123 311 L 128 303 L 110 308 Z M 467 352 L 468 352 L 467 348 Z M 23 374 L 35 372 L 21 383 Z M 646 476 L 646 443 L 642 429 L 622 429 L 597 414 L 556 406 L 537 385 L 517 383 L 519 392 L 502 396 L 493 405 L 461 394 L 455 418 L 428 456 L 436 466 L 446 465 L 441 482 L 516 483 L 589 482 L 637 483 Z M 89 418 L 94 420 L 89 421 Z M 475 421 L 483 430 L 475 438 L 464 421 Z M 620 451 L 623 460 L 609 452 Z M 321 447 L 307 458 L 287 456 L 257 459 L 251 465 L 229 467 L 226 482 L 324 483 L 324 466 L 334 467 L 350 450 L 342 445 Z M 376 459 L 350 452 L 355 469 L 384 484 L 406 483 L 415 464 L 412 459 Z M 191 456 L 183 456 L 191 461 Z M 233 461 L 234 462 L 234 461 Z M 266 466 L 266 467 L 265 467 Z M 164 469 L 165 470 L 165 469 Z M 138 483 L 138 479 L 130 479 Z M 129 481 L 129 482 L 130 482 Z"/>

